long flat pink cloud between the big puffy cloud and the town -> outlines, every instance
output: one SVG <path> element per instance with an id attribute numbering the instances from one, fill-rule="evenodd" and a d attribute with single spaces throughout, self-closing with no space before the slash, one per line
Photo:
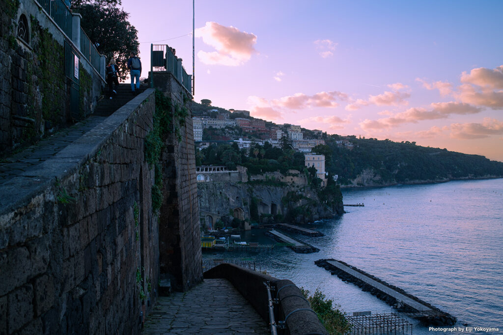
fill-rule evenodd
<path id="1" fill-rule="evenodd" d="M 302 109 L 307 107 L 337 107 L 339 103 L 336 100 L 346 100 L 348 95 L 339 91 L 318 92 L 313 95 L 304 93 L 295 93 L 294 95 L 284 96 L 273 100 L 273 104 L 291 108 Z"/>

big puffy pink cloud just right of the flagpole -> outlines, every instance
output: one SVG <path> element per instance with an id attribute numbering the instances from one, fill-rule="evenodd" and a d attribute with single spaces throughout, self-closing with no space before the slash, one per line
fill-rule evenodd
<path id="1" fill-rule="evenodd" d="M 196 37 L 216 49 L 213 52 L 199 51 L 198 57 L 205 64 L 238 66 L 248 61 L 256 53 L 257 36 L 241 32 L 239 29 L 225 27 L 216 22 L 206 22 L 204 27 L 196 29 Z"/>

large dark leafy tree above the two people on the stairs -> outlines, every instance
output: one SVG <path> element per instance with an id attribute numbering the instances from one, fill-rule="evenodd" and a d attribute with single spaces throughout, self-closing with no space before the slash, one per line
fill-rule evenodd
<path id="1" fill-rule="evenodd" d="M 72 5 L 72 10 L 82 16 L 82 30 L 91 42 L 95 43 L 99 53 L 115 58 L 119 67 L 119 77 L 127 75 L 127 60 L 131 51 L 137 52 L 138 31 L 129 23 L 129 14 L 114 7 L 120 0 L 92 0 L 81 5 Z M 83 4 L 82 4 L 83 3 Z M 103 4 L 108 4 L 103 6 Z"/>

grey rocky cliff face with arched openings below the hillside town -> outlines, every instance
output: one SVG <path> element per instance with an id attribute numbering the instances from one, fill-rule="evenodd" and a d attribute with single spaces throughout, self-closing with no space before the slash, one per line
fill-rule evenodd
<path id="1" fill-rule="evenodd" d="M 311 186 L 295 183 L 200 182 L 197 186 L 206 228 L 214 229 L 218 220 L 232 218 L 245 221 L 241 227 L 246 229 L 250 222 L 305 223 L 344 212 L 342 195 L 320 199 Z"/>

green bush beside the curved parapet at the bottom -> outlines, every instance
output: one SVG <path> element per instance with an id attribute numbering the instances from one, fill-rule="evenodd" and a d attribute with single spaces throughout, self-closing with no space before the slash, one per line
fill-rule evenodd
<path id="1" fill-rule="evenodd" d="M 319 320 L 325 326 L 325 329 L 330 334 L 344 334 L 350 330 L 350 324 L 346 318 L 346 313 L 338 307 L 333 306 L 331 299 L 326 299 L 326 296 L 321 293 L 319 288 L 316 289 L 313 295 L 309 296 L 309 291 L 301 288 L 302 293 L 307 301 L 311 304 L 311 308 L 318 315 Z"/>

